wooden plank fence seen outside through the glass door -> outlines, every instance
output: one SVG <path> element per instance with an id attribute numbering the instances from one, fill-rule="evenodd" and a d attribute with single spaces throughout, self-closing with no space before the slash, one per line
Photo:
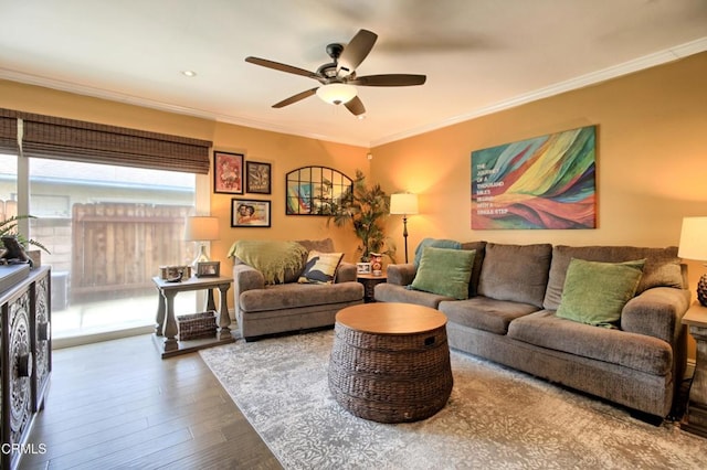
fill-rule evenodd
<path id="1" fill-rule="evenodd" d="M 72 297 L 149 288 L 160 266 L 183 264 L 188 256 L 184 221 L 191 210 L 178 205 L 74 204 Z"/>

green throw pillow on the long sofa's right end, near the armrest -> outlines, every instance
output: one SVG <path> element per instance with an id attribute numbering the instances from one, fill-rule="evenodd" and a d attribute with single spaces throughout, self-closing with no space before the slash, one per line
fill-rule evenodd
<path id="1" fill-rule="evenodd" d="M 557 316 L 599 327 L 612 327 L 636 293 L 645 259 L 599 263 L 572 258 Z"/>

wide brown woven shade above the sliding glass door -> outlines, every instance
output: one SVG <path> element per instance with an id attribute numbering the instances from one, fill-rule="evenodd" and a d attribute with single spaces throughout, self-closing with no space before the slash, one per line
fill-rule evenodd
<path id="1" fill-rule="evenodd" d="M 25 157 L 209 172 L 208 140 L 19 111 L 17 117 L 23 120 Z"/>

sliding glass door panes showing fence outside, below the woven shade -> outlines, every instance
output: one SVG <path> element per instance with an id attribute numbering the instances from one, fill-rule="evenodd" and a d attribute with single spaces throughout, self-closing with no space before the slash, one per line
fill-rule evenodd
<path id="1" fill-rule="evenodd" d="M 51 252 L 54 338 L 154 325 L 151 277 L 194 257 L 183 242 L 194 175 L 34 158 L 29 170 L 30 234 Z M 175 300 L 192 312 L 194 292 Z"/>

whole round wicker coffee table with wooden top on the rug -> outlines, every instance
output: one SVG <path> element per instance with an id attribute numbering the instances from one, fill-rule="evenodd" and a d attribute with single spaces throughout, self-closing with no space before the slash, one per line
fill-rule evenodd
<path id="1" fill-rule="evenodd" d="M 452 393 L 446 317 L 410 303 L 362 303 L 336 316 L 329 389 L 351 414 L 379 423 L 437 413 Z"/>

